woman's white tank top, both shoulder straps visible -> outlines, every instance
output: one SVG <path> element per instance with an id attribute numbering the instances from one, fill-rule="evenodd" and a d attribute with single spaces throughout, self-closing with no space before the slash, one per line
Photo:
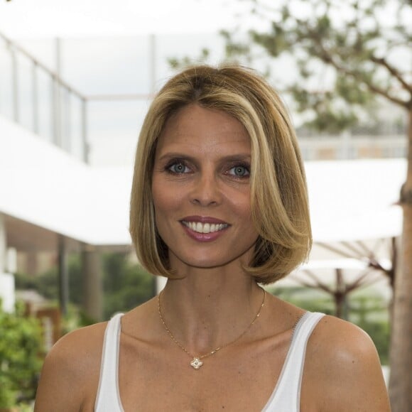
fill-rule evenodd
<path id="1" fill-rule="evenodd" d="M 122 313 L 109 320 L 102 352 L 95 412 L 124 412 L 119 394 L 119 347 Z M 306 312 L 296 324 L 278 383 L 262 412 L 299 412 L 300 385 L 308 339 L 323 313 Z"/>

